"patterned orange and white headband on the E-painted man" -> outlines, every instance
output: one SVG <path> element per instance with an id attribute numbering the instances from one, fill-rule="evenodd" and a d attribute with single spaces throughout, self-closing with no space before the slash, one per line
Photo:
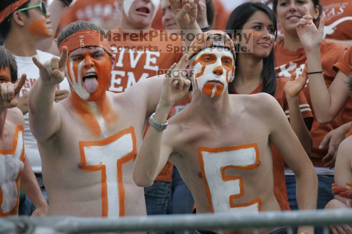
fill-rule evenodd
<path id="1" fill-rule="evenodd" d="M 222 37 L 221 40 L 214 40 L 212 36 L 215 35 L 220 35 Z M 236 50 L 232 39 L 226 33 L 216 30 L 202 33 L 200 37 L 197 36 L 190 45 L 187 58 L 191 59 L 207 47 L 229 48 L 233 54 L 233 58 L 236 60 Z"/>

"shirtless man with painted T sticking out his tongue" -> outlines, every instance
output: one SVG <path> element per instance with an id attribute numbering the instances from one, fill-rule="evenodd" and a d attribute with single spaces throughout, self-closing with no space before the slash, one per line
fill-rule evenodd
<path id="1" fill-rule="evenodd" d="M 146 214 L 143 188 L 134 183 L 132 171 L 162 80 L 151 78 L 120 94 L 106 91 L 115 56 L 100 30 L 74 22 L 58 36 L 60 59 L 42 64 L 33 57 L 40 78 L 29 96 L 30 127 L 42 158 L 50 215 Z M 71 94 L 54 103 L 55 85 L 65 75 Z"/>

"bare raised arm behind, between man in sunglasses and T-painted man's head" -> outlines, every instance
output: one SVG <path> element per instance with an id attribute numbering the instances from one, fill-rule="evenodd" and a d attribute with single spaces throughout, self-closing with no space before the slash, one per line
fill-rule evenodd
<path id="1" fill-rule="evenodd" d="M 50 12 L 50 21 L 52 25 L 53 35 L 41 41 L 37 48 L 42 51 L 48 51 L 52 47 L 52 43 L 56 34 L 57 27 L 59 26 L 63 12 L 65 11 L 66 5 L 60 0 L 54 0 L 48 7 Z M 55 54 L 58 54 L 58 50 Z"/>

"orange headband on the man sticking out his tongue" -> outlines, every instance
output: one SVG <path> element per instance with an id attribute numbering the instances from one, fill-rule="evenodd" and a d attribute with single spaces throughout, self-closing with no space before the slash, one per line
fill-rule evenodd
<path id="1" fill-rule="evenodd" d="M 108 39 L 103 34 L 94 30 L 79 31 L 67 37 L 59 45 L 60 54 L 64 46 L 67 47 L 68 53 L 79 48 L 95 46 L 103 48 L 110 56 L 112 55 Z"/>

